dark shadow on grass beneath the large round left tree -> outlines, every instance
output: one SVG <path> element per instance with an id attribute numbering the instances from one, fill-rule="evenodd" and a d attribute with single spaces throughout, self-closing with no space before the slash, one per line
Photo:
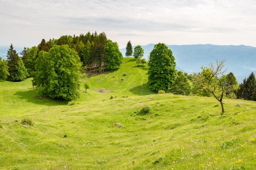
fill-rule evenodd
<path id="1" fill-rule="evenodd" d="M 26 102 L 31 102 L 36 105 L 46 105 L 46 106 L 67 105 L 67 101 L 63 99 L 50 99 L 47 97 L 38 99 L 36 97 L 36 89 L 32 89 L 29 91 L 17 91 L 14 95 L 18 96 L 20 99 L 25 99 Z"/>

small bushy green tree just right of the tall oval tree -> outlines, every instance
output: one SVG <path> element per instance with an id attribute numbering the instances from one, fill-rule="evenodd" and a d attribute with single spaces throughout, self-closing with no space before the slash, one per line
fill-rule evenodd
<path id="1" fill-rule="evenodd" d="M 189 82 L 188 78 L 183 74 L 183 72 L 178 71 L 174 83 L 170 88 L 170 91 L 173 94 L 181 94 L 188 96 L 191 92 L 190 83 L 191 82 Z"/>

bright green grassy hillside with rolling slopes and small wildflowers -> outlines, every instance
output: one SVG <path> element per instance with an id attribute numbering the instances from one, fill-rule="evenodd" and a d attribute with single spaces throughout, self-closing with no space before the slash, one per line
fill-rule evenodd
<path id="1" fill-rule="evenodd" d="M 221 116 L 213 98 L 155 94 L 146 73 L 125 58 L 70 103 L 37 99 L 31 79 L 0 82 L 0 169 L 255 169 L 256 102 L 225 99 Z"/>

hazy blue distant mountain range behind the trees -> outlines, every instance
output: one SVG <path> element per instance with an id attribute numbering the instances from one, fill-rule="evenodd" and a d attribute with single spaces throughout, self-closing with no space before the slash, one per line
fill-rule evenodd
<path id="1" fill-rule="evenodd" d="M 202 65 L 207 66 L 215 59 L 225 59 L 227 73 L 233 72 L 239 82 L 256 71 L 256 47 L 245 45 L 167 45 L 175 56 L 177 70 L 187 73 L 200 72 Z M 148 59 L 154 44 L 142 45 L 144 58 Z M 125 48 L 120 49 L 125 57 Z"/>

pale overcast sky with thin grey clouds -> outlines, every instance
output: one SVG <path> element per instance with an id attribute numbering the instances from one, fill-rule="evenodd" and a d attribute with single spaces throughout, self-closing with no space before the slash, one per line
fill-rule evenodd
<path id="1" fill-rule="evenodd" d="M 105 31 L 124 48 L 168 45 L 256 46 L 255 0 L 0 0 L 0 45 Z"/>

